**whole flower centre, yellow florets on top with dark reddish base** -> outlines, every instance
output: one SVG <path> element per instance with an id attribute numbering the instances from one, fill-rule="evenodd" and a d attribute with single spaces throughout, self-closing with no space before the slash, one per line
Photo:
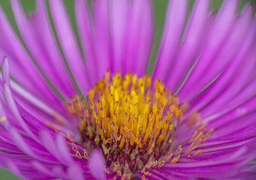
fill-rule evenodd
<path id="1" fill-rule="evenodd" d="M 149 163 L 162 166 L 172 156 L 173 162 L 179 159 L 180 146 L 170 153 L 182 117 L 179 99 L 160 80 L 152 87 L 148 75 L 110 77 L 107 72 L 86 99 L 72 98 L 69 109 L 80 118 L 83 145 L 101 148 L 107 172 L 128 176 Z"/>

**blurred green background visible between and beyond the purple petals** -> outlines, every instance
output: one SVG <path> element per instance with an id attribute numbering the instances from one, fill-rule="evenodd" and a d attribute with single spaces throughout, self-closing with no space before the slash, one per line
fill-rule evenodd
<path id="1" fill-rule="evenodd" d="M 63 1 L 65 2 L 65 5 L 68 10 L 68 15 L 71 19 L 71 24 L 76 33 L 76 28 L 75 28 L 76 23 L 75 23 L 75 17 L 74 17 L 74 0 L 63 0 Z M 188 1 L 189 1 L 189 12 L 191 12 L 191 9 L 194 4 L 194 0 L 188 0 Z M 230 0 L 230 1 L 233 1 L 233 0 Z M 256 0 L 238 0 L 238 1 L 239 1 L 238 11 L 240 11 L 247 2 L 251 2 L 251 4 L 254 6 L 254 11 L 255 11 Z M 27 14 L 33 13 L 33 11 L 35 10 L 35 0 L 21 0 L 20 2 L 23 5 L 23 8 Z M 151 62 L 153 62 L 155 51 L 157 49 L 156 47 L 158 46 L 158 43 L 161 38 L 161 32 L 164 27 L 164 17 L 165 17 L 168 0 L 152 0 L 152 2 L 155 10 L 155 44 L 153 46 Z M 212 0 L 211 2 L 212 2 L 212 5 L 211 5 L 212 10 L 218 10 L 223 0 Z M 17 31 L 17 25 L 14 21 L 14 15 L 11 10 L 10 0 L 0 0 L 0 5 L 2 6 L 2 10 L 5 11 L 8 19 L 10 20 L 11 25 L 14 27 L 15 31 Z M 17 178 L 17 176 L 13 175 L 8 169 L 4 169 L 0 167 L 0 180 L 2 179 L 17 180 L 20 178 Z"/>

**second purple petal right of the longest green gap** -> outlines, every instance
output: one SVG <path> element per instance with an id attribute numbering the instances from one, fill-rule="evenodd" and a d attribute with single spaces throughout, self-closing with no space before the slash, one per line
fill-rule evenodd
<path id="1" fill-rule="evenodd" d="M 186 28 L 184 42 L 179 49 L 172 71 L 167 77 L 167 86 L 170 89 L 175 89 L 178 86 L 194 59 L 199 55 L 206 32 L 209 31 L 208 23 L 211 23 L 208 14 L 209 1 L 197 0 Z"/>

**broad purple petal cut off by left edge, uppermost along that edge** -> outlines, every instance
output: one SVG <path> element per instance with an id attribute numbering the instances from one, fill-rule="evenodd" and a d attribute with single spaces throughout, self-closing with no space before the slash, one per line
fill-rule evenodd
<path id="1" fill-rule="evenodd" d="M 0 10 L 0 22 L 2 24 L 0 28 L 0 49 L 2 49 L 4 55 L 8 55 L 12 77 L 42 101 L 47 99 L 52 104 L 60 104 L 35 65 L 32 65 L 29 55 L 17 39 L 17 35 L 14 34 L 2 10 Z M 38 89 L 41 89 L 41 91 L 38 91 Z"/>

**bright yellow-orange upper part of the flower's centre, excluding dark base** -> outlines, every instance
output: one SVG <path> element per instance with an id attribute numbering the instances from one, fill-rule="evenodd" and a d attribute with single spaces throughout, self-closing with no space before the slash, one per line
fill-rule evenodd
<path id="1" fill-rule="evenodd" d="M 160 145 L 168 131 L 173 130 L 173 122 L 180 118 L 181 113 L 179 99 L 170 95 L 159 80 L 151 89 L 151 80 L 147 75 L 138 78 L 136 74 L 128 73 L 123 77 L 117 73 L 110 82 L 110 73 L 107 72 L 89 90 L 88 98 L 90 106 L 85 111 L 87 115 L 80 121 L 80 130 L 87 126 L 89 131 L 92 129 L 98 134 L 95 142 L 110 139 L 119 148 L 124 148 L 126 141 L 130 146 L 139 144 L 139 148 L 149 142 L 149 149 L 153 150 L 155 144 Z M 78 98 L 73 99 L 77 101 L 76 109 L 86 107 Z M 169 111 L 164 115 L 166 106 L 169 106 Z M 74 112 L 72 108 L 71 112 Z M 86 118 L 90 118 L 89 123 L 86 123 Z M 94 135 L 89 133 L 89 136 Z"/>

